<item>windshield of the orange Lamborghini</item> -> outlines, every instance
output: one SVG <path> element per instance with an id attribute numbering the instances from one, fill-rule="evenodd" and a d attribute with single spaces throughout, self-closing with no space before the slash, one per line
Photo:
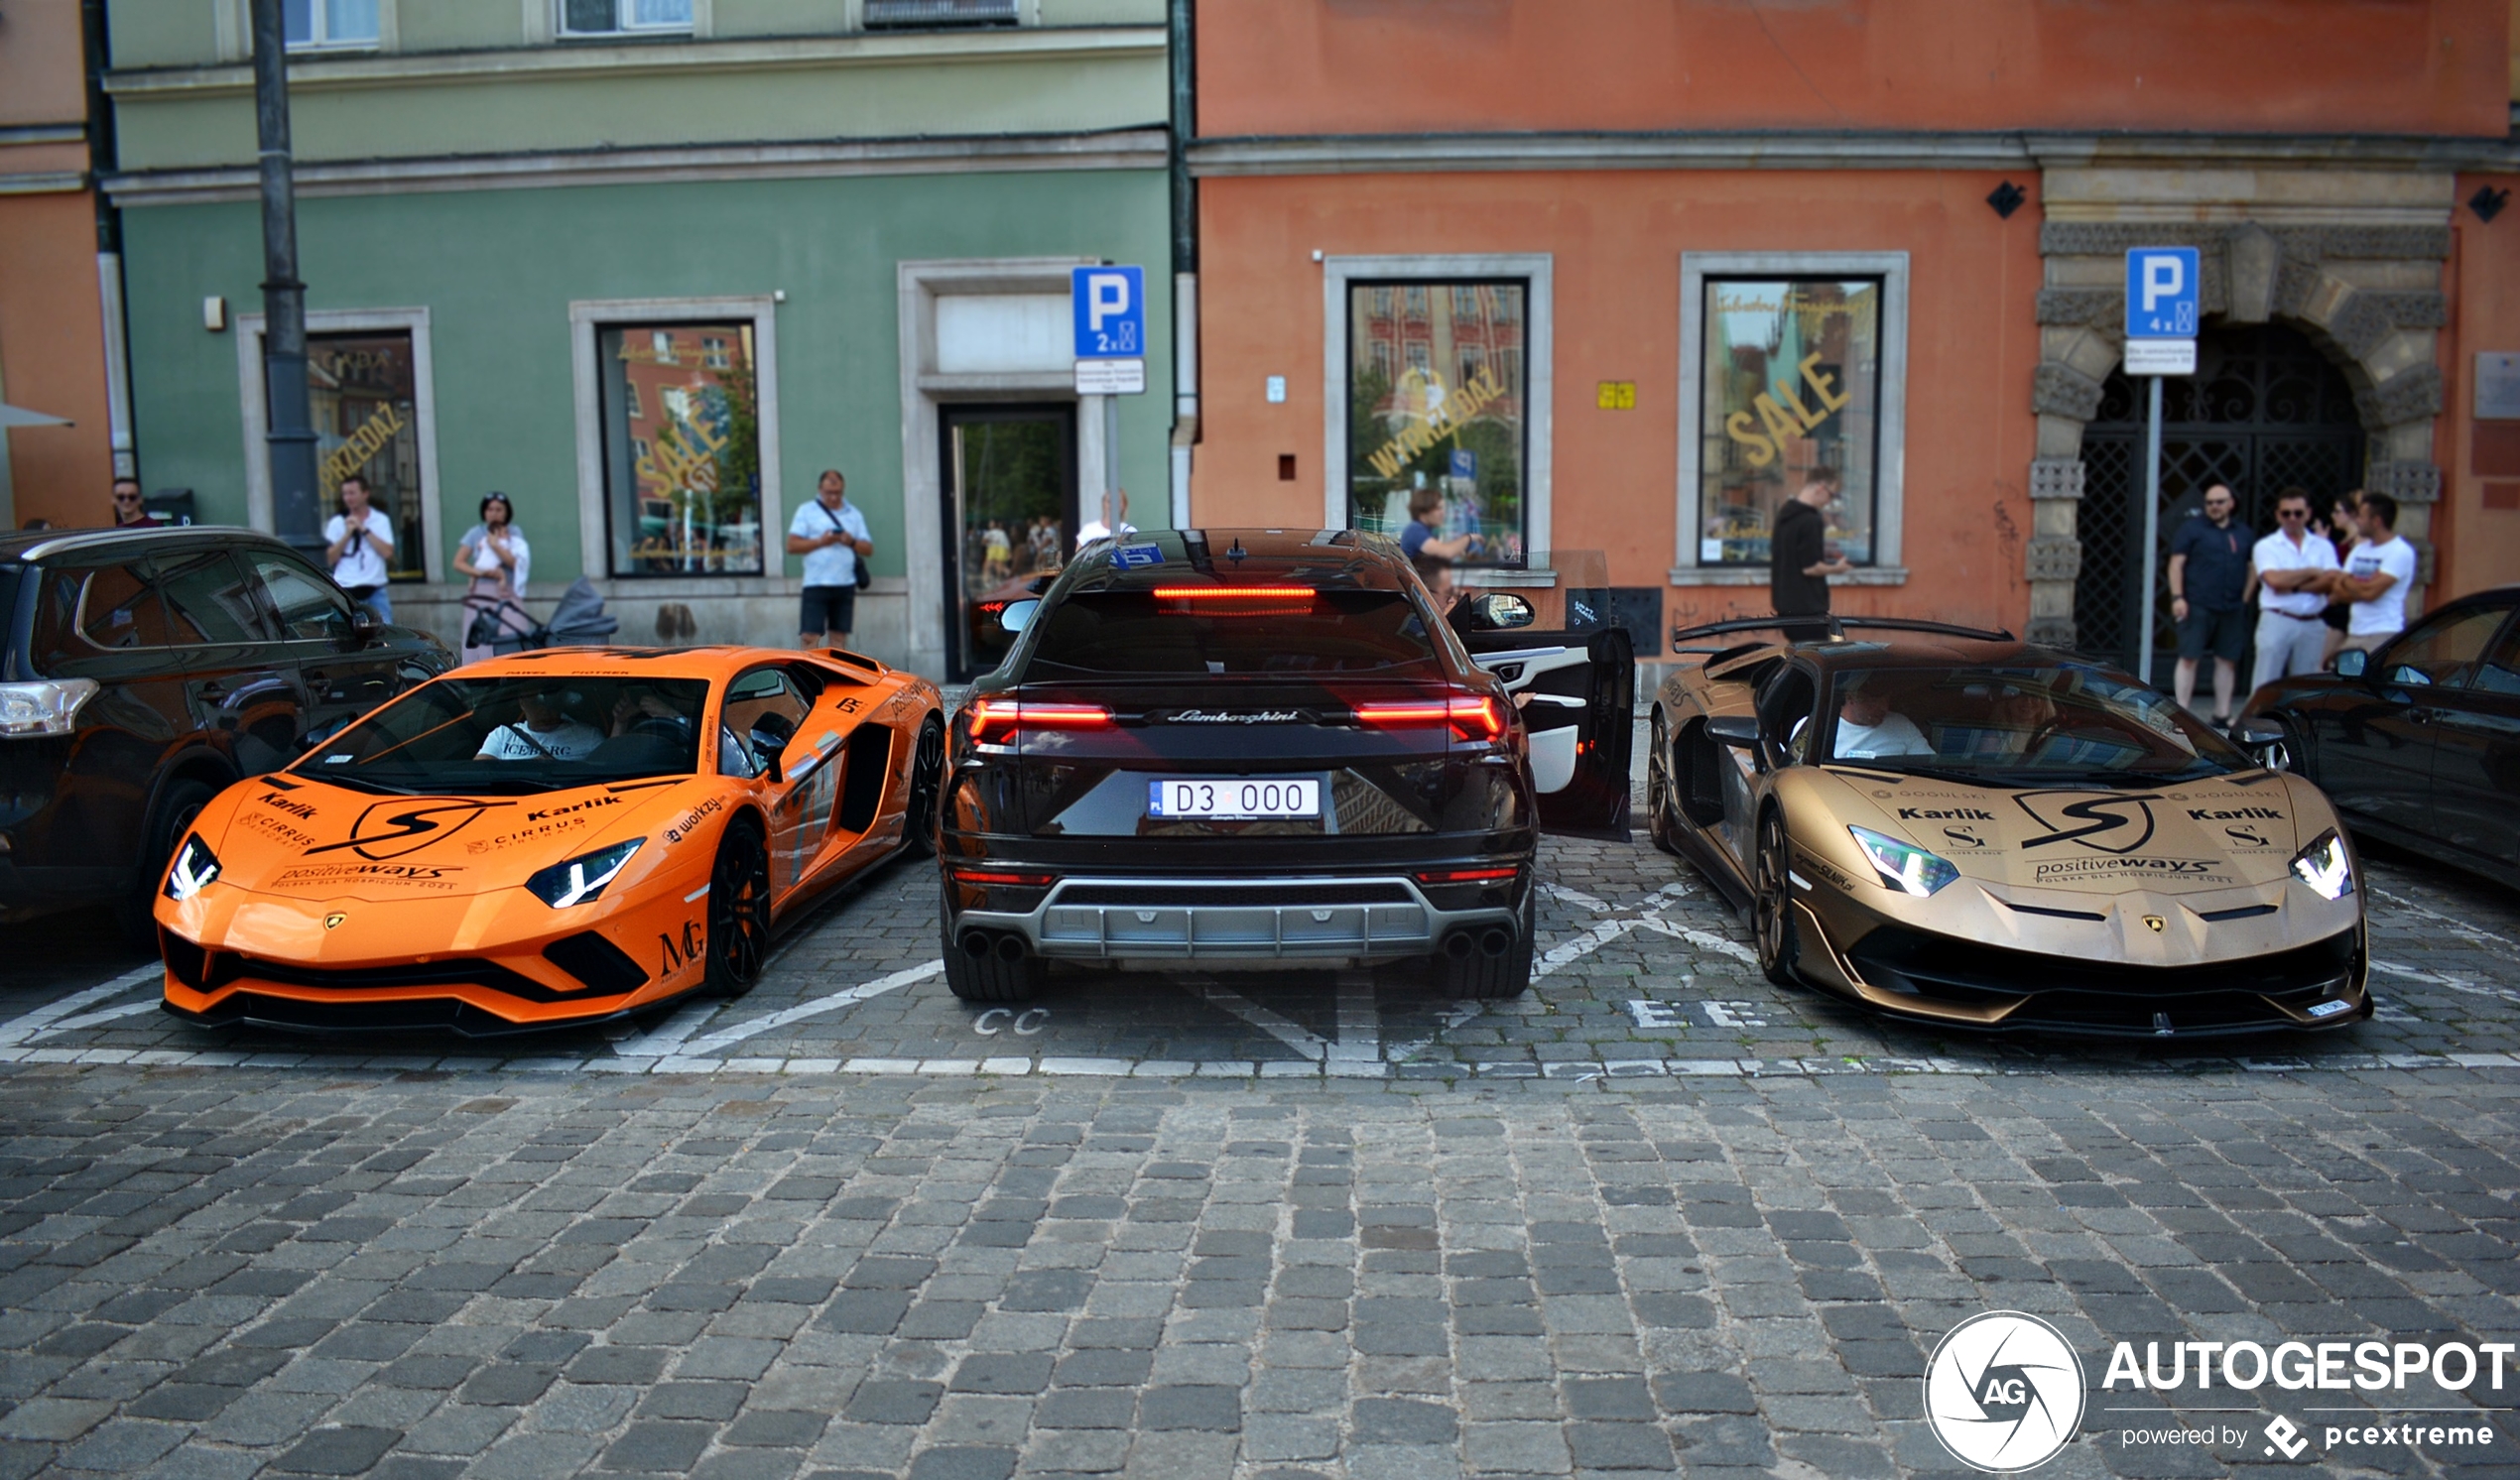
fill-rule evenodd
<path id="1" fill-rule="evenodd" d="M 559 792 L 698 769 L 703 678 L 438 678 L 292 769 L 383 792 Z"/>

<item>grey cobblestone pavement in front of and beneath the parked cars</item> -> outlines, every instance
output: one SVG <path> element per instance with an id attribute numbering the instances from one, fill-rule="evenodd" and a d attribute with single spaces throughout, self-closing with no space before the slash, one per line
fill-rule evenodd
<path id="1" fill-rule="evenodd" d="M 1348 973 L 975 1014 L 912 867 L 738 1003 L 532 1044 L 217 1039 L 28 943 L 0 1477 L 1958 1472 L 1918 1377 L 1988 1309 L 2089 1367 L 2041 1475 L 2520 1475 L 2520 1364 L 2099 1387 L 2114 1341 L 2520 1339 L 2512 895 L 2379 860 L 2376 1021 L 2155 1051 L 1779 993 L 1643 845 L 1547 877 L 1547 976 L 1477 1011 Z M 2379 1442 L 2389 1404 L 2495 1440 Z"/>

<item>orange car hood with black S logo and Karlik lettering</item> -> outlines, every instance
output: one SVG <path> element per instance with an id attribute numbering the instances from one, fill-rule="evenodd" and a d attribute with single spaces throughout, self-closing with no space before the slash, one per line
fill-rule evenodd
<path id="1" fill-rule="evenodd" d="M 239 782 L 199 832 L 229 885 L 300 900 L 423 900 L 522 885 L 534 870 L 660 827 L 698 779 L 532 797 L 378 797 L 302 777 Z M 219 809 L 227 817 L 217 817 Z"/>

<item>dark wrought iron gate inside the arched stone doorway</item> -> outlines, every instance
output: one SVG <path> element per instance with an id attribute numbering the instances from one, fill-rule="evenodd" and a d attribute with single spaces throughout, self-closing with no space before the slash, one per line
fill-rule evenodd
<path id="1" fill-rule="evenodd" d="M 2134 668 L 2145 567 L 2145 388 L 2112 371 L 2099 413 L 2082 434 L 2082 575 L 2074 582 L 2074 645 Z M 2230 484 L 2238 519 L 2276 527 L 2276 494 L 2311 492 L 2326 519 L 2336 494 L 2361 487 L 2364 429 L 2344 373 L 2283 325 L 2208 328 L 2197 373 L 2162 383 L 2162 519 L 2155 562 L 2213 484 Z M 2177 648 L 2170 585 L 2155 580 L 2155 671 Z"/>

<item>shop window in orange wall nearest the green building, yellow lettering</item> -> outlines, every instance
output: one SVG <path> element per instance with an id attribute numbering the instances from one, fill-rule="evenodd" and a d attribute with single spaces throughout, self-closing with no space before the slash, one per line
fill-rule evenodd
<path id="1" fill-rule="evenodd" d="M 1391 287 L 1409 320 L 1426 323 L 1411 328 L 1426 338 L 1401 345 L 1399 376 L 1373 330 Z M 1479 535 L 1469 562 L 1522 562 L 1530 386 L 1520 350 L 1462 340 L 1492 340 L 1489 325 L 1517 320 L 1527 292 L 1522 280 L 1348 285 L 1348 524 L 1396 537 L 1409 504 L 1431 494 L 1444 509 L 1439 537 Z"/>

